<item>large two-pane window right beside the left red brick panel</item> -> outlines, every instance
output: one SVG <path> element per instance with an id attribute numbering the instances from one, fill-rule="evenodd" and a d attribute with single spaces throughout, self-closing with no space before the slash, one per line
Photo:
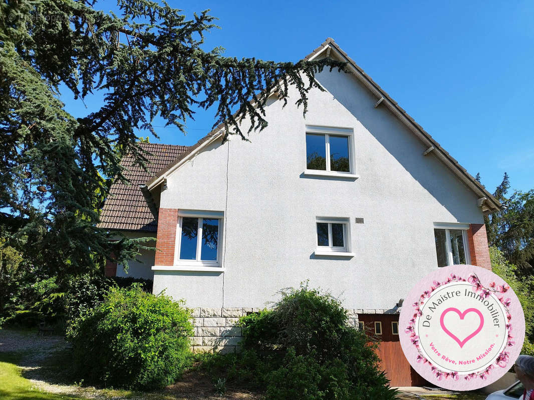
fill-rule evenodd
<path id="1" fill-rule="evenodd" d="M 222 213 L 180 211 L 176 235 L 176 265 L 221 265 Z"/>

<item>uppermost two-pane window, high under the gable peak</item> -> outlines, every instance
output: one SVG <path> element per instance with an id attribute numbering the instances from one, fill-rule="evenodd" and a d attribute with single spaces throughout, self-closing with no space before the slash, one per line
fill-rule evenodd
<path id="1" fill-rule="evenodd" d="M 305 174 L 356 177 L 351 149 L 351 129 L 307 126 Z"/>

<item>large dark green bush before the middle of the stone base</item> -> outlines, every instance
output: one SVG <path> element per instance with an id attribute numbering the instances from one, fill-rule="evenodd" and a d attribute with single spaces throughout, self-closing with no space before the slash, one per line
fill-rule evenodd
<path id="1" fill-rule="evenodd" d="M 271 310 L 242 317 L 244 351 L 203 367 L 266 390 L 268 399 L 394 399 L 365 333 L 339 300 L 307 286 L 282 292 Z"/>

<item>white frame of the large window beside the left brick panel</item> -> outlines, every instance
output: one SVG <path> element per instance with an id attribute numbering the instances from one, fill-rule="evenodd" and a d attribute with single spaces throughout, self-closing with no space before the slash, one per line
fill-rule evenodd
<path id="1" fill-rule="evenodd" d="M 180 260 L 180 246 L 182 244 L 182 222 L 184 218 L 198 218 L 198 233 L 197 233 L 197 259 L 196 260 Z M 201 260 L 202 249 L 202 222 L 204 219 L 217 219 L 219 226 L 217 231 L 217 260 L 207 261 Z M 174 251 L 174 265 L 183 267 L 215 267 L 221 268 L 222 262 L 222 241 L 223 241 L 223 213 L 218 211 L 178 211 L 178 223 L 176 226 L 176 243 Z"/>

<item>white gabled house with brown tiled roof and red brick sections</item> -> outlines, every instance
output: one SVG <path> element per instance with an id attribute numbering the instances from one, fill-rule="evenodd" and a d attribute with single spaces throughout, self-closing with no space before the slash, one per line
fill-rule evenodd
<path id="1" fill-rule="evenodd" d="M 438 267 L 491 269 L 483 215 L 501 205 L 332 39 L 307 59 L 321 57 L 349 73 L 318 74 L 326 91 L 310 93 L 305 116 L 273 95 L 250 142 L 223 144 L 218 127 L 189 148 L 144 145 L 155 174 L 117 183 L 100 226 L 157 225 L 159 251 L 130 274 L 153 273 L 154 293 L 195 309 L 195 349 L 234 349 L 236 317 L 308 279 L 382 335 L 392 385 L 416 384 L 396 337 L 402 299 Z"/>

